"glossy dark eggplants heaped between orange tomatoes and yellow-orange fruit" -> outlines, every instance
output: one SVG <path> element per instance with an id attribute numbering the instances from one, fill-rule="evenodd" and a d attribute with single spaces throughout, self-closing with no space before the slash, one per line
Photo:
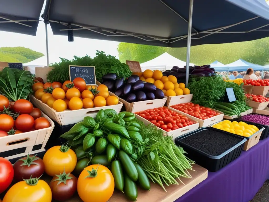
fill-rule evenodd
<path id="1" fill-rule="evenodd" d="M 153 83 L 139 80 L 139 76 L 132 75 L 128 79 L 117 78 L 115 74 L 109 73 L 102 77 L 102 84 L 116 96 L 127 102 L 163 99 L 164 92 L 156 88 Z"/>

